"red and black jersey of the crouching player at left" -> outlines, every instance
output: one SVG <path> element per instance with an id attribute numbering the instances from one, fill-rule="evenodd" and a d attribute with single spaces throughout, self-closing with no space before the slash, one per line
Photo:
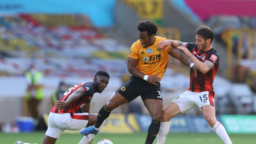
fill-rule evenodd
<path id="1" fill-rule="evenodd" d="M 77 89 L 82 87 L 84 89 L 84 95 L 76 99 L 74 102 L 71 102 L 67 108 L 56 110 L 56 107 L 52 108 L 51 112 L 54 113 L 76 113 L 80 106 L 84 103 L 90 103 L 91 98 L 94 95 L 94 84 L 93 82 L 83 82 L 78 85 L 74 85 L 73 87 L 69 88 L 60 98 L 58 101 L 66 101 L 66 99 L 73 94 Z"/>

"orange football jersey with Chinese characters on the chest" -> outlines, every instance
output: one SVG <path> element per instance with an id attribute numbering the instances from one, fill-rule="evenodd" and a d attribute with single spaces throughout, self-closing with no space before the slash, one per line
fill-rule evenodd
<path id="1" fill-rule="evenodd" d="M 162 78 L 168 64 L 167 50 L 159 49 L 156 44 L 160 41 L 166 40 L 166 38 L 155 36 L 155 43 L 147 48 L 144 48 L 140 43 L 140 40 L 134 42 L 130 48 L 129 57 L 138 59 L 137 68 L 146 75 L 159 74 L 159 78 Z"/>

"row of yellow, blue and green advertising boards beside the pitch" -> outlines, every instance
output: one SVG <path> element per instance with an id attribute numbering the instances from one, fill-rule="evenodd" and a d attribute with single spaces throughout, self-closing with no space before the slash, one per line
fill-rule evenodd
<path id="1" fill-rule="evenodd" d="M 255 115 L 218 115 L 217 120 L 224 125 L 228 133 L 256 134 Z M 202 115 L 180 115 L 170 120 L 169 133 L 213 133 Z M 147 114 L 111 113 L 102 126 L 101 133 L 139 133 L 148 132 L 151 117 Z M 65 133 L 79 133 L 66 130 Z"/>

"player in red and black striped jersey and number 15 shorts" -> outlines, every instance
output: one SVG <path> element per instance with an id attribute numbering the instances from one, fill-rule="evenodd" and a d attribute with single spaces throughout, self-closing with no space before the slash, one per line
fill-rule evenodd
<path id="1" fill-rule="evenodd" d="M 165 40 L 158 43 L 159 48 L 177 47 L 182 50 L 193 63 L 190 64 L 190 87 L 177 96 L 165 109 L 158 133 L 157 143 L 164 144 L 170 129 L 170 119 L 199 107 L 209 126 L 217 133 L 225 144 L 232 144 L 225 128 L 215 116 L 213 90 L 214 76 L 219 68 L 219 54 L 212 47 L 214 33 L 208 26 L 200 26 L 196 30 L 195 43 Z M 195 69 L 194 66 L 198 70 Z M 192 69 L 193 68 L 193 69 Z"/>

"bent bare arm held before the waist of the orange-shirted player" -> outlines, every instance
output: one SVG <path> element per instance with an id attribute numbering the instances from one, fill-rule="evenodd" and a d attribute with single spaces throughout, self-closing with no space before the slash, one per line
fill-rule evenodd
<path id="1" fill-rule="evenodd" d="M 138 59 L 128 57 L 127 69 L 129 73 L 132 74 L 133 76 L 143 79 L 145 74 L 140 72 L 139 69 L 137 69 L 136 67 L 136 65 L 138 64 L 138 61 L 139 61 Z"/>

